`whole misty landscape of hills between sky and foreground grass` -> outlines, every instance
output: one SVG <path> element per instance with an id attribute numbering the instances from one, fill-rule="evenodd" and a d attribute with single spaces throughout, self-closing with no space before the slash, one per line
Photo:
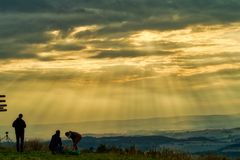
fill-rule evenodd
<path id="1" fill-rule="evenodd" d="M 189 124 L 186 125 L 186 122 Z M 219 154 L 237 157 L 240 156 L 239 122 L 240 118 L 235 114 L 33 125 L 26 137 L 30 140 L 38 137 L 41 143 L 47 145 L 52 128 L 61 128 L 63 131 L 70 128 L 84 131 L 84 138 L 79 145 L 81 150 L 91 148 L 96 151 L 100 145 L 122 149 L 134 146 L 143 152 L 171 149 L 193 155 Z M 182 128 L 174 129 L 179 125 Z M 6 126 L 1 128 L 7 129 Z M 111 130 L 112 128 L 118 129 Z M 2 143 L 13 146 L 12 143 Z M 63 143 L 65 146 L 71 145 L 65 138 Z"/>

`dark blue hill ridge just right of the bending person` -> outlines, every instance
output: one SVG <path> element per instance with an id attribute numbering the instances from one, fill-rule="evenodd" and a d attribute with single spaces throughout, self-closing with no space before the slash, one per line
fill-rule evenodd
<path id="1" fill-rule="evenodd" d="M 113 137 L 84 137 L 80 146 L 83 148 L 96 148 L 101 144 L 128 148 L 136 146 L 141 150 L 150 150 L 176 144 L 185 145 L 193 143 L 214 143 L 217 141 L 206 137 L 191 137 L 187 139 L 176 139 L 166 136 L 113 136 Z"/>

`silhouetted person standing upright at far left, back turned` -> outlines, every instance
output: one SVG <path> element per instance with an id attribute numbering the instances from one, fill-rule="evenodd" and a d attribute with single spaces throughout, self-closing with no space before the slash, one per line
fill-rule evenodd
<path id="1" fill-rule="evenodd" d="M 26 123 L 22 119 L 23 115 L 19 114 L 18 118 L 13 122 L 12 127 L 15 128 L 16 133 L 16 147 L 17 151 L 23 152 L 24 145 L 24 130 L 26 128 Z M 20 145 L 19 145 L 20 142 Z"/>

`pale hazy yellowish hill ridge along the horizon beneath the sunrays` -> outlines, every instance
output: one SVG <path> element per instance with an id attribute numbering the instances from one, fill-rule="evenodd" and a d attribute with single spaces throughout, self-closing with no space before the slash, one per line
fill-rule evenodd
<path id="1" fill-rule="evenodd" d="M 181 131 L 191 131 L 191 133 L 193 133 L 193 131 L 200 130 L 231 129 L 237 127 L 240 127 L 239 114 L 205 115 L 28 125 L 26 136 L 27 138 L 37 137 L 40 139 L 49 139 L 57 129 L 60 129 L 62 132 L 69 130 L 78 131 L 85 136 L 150 136 L 163 134 L 168 131 L 173 132 L 173 134 Z M 4 134 L 5 131 L 9 131 L 10 137 L 14 137 L 14 131 L 10 125 L 1 126 L 0 128 L 3 131 L 2 134 Z M 225 130 L 225 132 L 230 131 Z M 184 135 L 186 135 L 186 133 Z M 201 137 L 202 135 L 199 134 L 196 136 Z"/>

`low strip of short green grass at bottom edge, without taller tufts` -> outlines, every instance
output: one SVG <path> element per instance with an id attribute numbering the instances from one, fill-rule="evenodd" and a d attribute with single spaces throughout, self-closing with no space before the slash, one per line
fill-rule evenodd
<path id="1" fill-rule="evenodd" d="M 52 155 L 50 152 L 24 152 L 0 150 L 0 160 L 230 160 L 227 157 L 204 155 L 192 156 L 185 153 L 167 152 L 159 155 L 120 153 L 81 153 L 80 155 Z"/>

